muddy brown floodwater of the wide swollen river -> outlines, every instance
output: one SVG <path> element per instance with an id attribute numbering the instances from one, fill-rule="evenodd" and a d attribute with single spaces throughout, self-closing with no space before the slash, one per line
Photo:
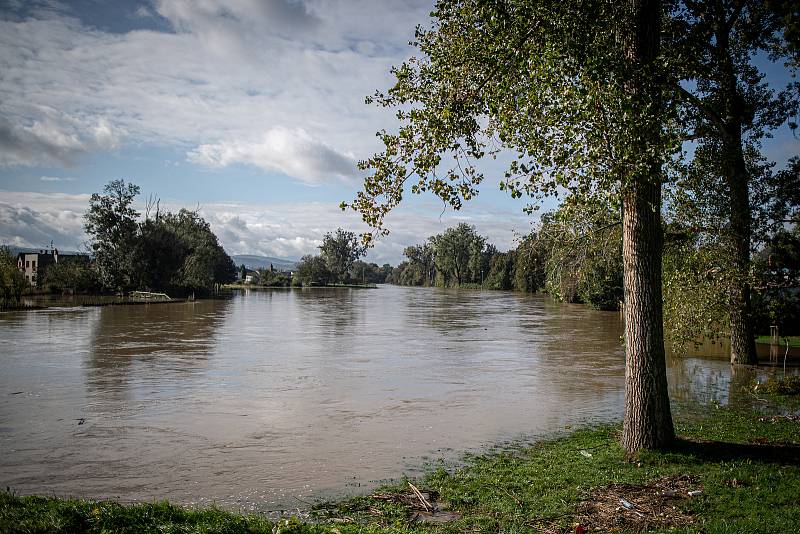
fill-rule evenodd
<path id="1" fill-rule="evenodd" d="M 0 313 L 0 486 L 305 507 L 619 419 L 621 331 L 542 296 L 394 286 Z M 673 398 L 735 401 L 751 376 L 701 352 L 669 359 Z"/>

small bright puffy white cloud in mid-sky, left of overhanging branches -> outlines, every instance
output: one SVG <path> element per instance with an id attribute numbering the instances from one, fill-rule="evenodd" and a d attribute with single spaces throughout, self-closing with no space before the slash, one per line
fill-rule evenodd
<path id="1" fill-rule="evenodd" d="M 305 130 L 273 128 L 259 141 L 224 141 L 200 145 L 189 152 L 189 160 L 211 167 L 245 163 L 265 171 L 277 171 L 298 180 L 317 184 L 331 178 L 355 176 L 356 162 L 325 143 L 312 138 Z"/>

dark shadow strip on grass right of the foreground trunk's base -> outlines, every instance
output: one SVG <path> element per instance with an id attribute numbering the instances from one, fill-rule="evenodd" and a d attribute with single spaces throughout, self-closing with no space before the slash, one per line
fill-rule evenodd
<path id="1" fill-rule="evenodd" d="M 691 454 L 708 461 L 752 460 L 800 465 L 800 445 L 780 443 L 728 443 L 679 438 L 672 452 Z"/>

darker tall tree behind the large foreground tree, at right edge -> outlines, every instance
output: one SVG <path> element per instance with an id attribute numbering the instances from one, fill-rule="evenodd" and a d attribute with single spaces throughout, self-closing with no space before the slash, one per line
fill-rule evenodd
<path id="1" fill-rule="evenodd" d="M 725 293 L 731 363 L 758 362 L 753 332 L 752 192 L 770 172 L 759 161 L 761 141 L 797 112 L 797 83 L 774 91 L 756 57 L 796 68 L 797 6 L 764 0 L 670 2 L 664 33 L 685 138 L 697 142 L 678 187 L 700 216 L 693 221 L 721 245 L 717 280 Z M 767 169 L 767 171 L 769 171 Z M 711 187 L 709 187 L 711 185 Z M 709 221 L 722 218 L 724 224 Z M 703 230 L 700 230 L 703 232 Z M 723 309 L 717 305 L 717 309 Z"/>

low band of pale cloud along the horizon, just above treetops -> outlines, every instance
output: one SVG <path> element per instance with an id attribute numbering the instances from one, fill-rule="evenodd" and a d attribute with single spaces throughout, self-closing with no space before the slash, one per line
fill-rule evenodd
<path id="1" fill-rule="evenodd" d="M 89 195 L 33 193 L 0 190 L 0 243 L 41 247 L 52 239 L 55 246 L 75 249 L 86 240 L 83 213 Z M 142 199 L 139 199 L 142 200 Z M 140 212 L 144 205 L 135 206 Z M 177 211 L 179 203 L 165 200 L 161 208 Z M 516 234 L 530 231 L 530 217 L 509 214 L 507 210 L 469 205 L 462 212 L 445 212 L 432 203 L 404 205 L 387 217 L 392 233 L 381 238 L 369 251 L 367 259 L 396 265 L 403 259 L 403 249 L 423 242 L 449 226 L 466 222 L 500 250 L 515 246 Z M 315 254 L 325 232 L 342 227 L 364 231 L 358 215 L 342 212 L 328 202 L 282 204 L 217 203 L 200 206 L 200 214 L 209 222 L 229 254 L 262 254 L 299 258 Z"/>

